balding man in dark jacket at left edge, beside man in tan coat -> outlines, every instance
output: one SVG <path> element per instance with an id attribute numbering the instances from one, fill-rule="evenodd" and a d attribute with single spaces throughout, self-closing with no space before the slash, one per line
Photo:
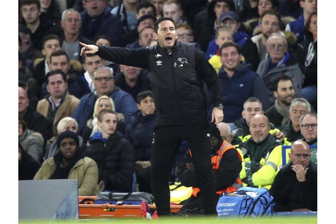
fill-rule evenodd
<path id="1" fill-rule="evenodd" d="M 27 129 L 43 135 L 44 142 L 51 138 L 52 133 L 47 128 L 47 120 L 43 115 L 29 106 L 27 91 L 18 87 L 18 114 L 27 124 Z"/>

